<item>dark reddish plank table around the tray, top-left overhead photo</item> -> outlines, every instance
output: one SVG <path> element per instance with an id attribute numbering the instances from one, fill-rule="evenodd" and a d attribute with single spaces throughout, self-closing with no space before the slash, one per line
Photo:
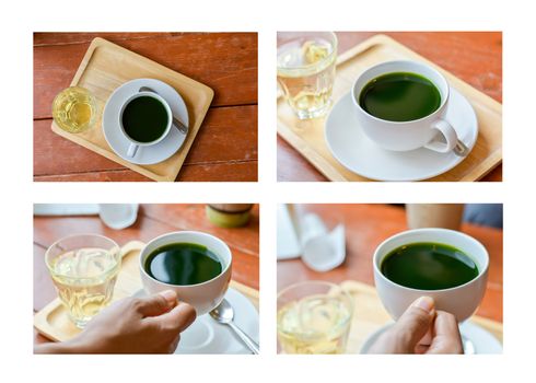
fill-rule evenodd
<path id="1" fill-rule="evenodd" d="M 96 36 L 214 90 L 177 181 L 257 181 L 256 33 L 35 33 L 34 181 L 149 181 L 50 130 L 53 100 Z"/>

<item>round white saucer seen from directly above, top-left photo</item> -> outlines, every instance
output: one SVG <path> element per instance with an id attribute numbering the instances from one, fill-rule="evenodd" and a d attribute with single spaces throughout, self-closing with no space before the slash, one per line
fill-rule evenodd
<path id="1" fill-rule="evenodd" d="M 119 127 L 119 112 L 123 103 L 141 86 L 156 91 L 170 104 L 173 115 L 188 126 L 188 109 L 180 94 L 165 82 L 154 79 L 136 79 L 117 88 L 109 96 L 103 113 L 103 131 L 106 141 L 114 152 L 125 161 L 139 165 L 150 165 L 172 156 L 184 143 L 186 136 L 172 127 L 161 142 L 151 147 L 140 147 L 133 158 L 127 156 L 129 141 Z"/>

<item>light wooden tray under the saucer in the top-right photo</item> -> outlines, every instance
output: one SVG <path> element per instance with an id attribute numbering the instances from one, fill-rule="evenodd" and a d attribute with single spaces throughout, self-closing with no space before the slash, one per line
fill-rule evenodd
<path id="1" fill-rule="evenodd" d="M 470 154 L 454 169 L 428 181 L 477 181 L 501 163 L 502 105 L 385 35 L 375 35 L 338 57 L 334 102 L 350 92 L 354 80 L 366 68 L 395 59 L 416 60 L 434 67 L 469 100 L 477 114 L 479 134 Z M 324 120 L 298 119 L 284 97 L 279 95 L 278 134 L 284 140 L 330 181 L 371 181 L 347 170 L 331 155 L 324 139 Z"/>

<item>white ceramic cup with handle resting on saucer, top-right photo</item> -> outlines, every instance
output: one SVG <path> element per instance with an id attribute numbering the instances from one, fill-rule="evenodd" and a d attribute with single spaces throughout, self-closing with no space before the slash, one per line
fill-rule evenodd
<path id="1" fill-rule="evenodd" d="M 410 121 L 391 121 L 365 112 L 359 105 L 363 88 L 375 78 L 393 72 L 416 73 L 430 80 L 441 94 L 440 107 L 426 117 Z M 416 61 L 387 61 L 373 66 L 359 76 L 352 88 L 352 102 L 361 128 L 378 147 L 394 151 L 424 147 L 440 153 L 448 153 L 456 144 L 462 144 L 456 130 L 444 119 L 448 93 L 446 79 L 432 67 Z"/>

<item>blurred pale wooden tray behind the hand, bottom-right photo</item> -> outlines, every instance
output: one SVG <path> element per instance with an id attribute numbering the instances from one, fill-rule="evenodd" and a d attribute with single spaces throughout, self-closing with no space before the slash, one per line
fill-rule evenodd
<path id="1" fill-rule="evenodd" d="M 392 323 L 393 320 L 385 311 L 374 287 L 358 281 L 346 281 L 341 287 L 354 298 L 356 312 L 348 338 L 348 352 L 361 350 L 364 340 L 378 328 Z M 493 334 L 502 343 L 502 324 L 480 316 L 473 316 L 470 322 Z"/>

